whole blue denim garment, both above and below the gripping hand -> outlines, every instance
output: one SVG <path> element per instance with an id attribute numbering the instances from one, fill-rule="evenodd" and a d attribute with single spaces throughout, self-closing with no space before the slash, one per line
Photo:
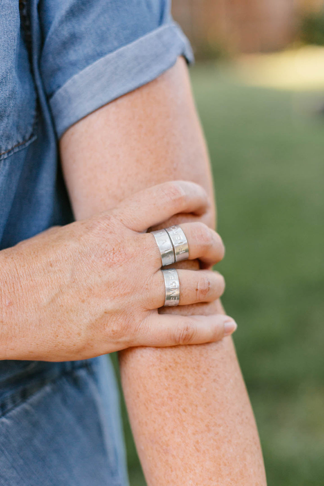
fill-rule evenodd
<path id="1" fill-rule="evenodd" d="M 167 0 L 0 0 L 0 249 L 73 221 L 58 139 L 179 55 L 192 61 Z M 0 362 L 0 485 L 126 484 L 116 384 L 106 362 Z M 92 421 L 75 420 L 70 430 L 81 406 L 92 410 Z M 44 427 L 55 429 L 47 441 Z M 82 437 L 91 464 L 82 459 Z M 59 480 L 51 479 L 44 454 L 35 466 L 46 447 Z M 71 466 L 65 448 L 78 447 Z"/>

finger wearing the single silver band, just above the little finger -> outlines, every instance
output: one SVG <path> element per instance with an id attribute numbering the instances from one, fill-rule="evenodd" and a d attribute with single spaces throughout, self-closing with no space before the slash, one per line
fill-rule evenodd
<path id="1" fill-rule="evenodd" d="M 219 272 L 210 270 L 177 270 L 180 284 L 179 305 L 212 302 L 221 297 L 225 290 L 225 281 Z M 165 281 L 158 270 L 150 285 L 150 295 L 145 295 L 146 309 L 153 310 L 164 306 Z"/>

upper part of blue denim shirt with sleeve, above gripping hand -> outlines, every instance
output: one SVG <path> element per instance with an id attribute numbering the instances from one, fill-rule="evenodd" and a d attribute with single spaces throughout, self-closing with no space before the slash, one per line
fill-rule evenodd
<path id="1" fill-rule="evenodd" d="M 0 249 L 72 221 L 57 139 L 181 54 L 165 0 L 0 0 Z"/>

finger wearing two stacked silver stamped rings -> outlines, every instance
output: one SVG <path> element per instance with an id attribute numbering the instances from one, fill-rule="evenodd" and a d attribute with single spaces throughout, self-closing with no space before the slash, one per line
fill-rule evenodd
<path id="1" fill-rule="evenodd" d="M 222 238 L 216 231 L 201 222 L 183 223 L 179 225 L 186 235 L 189 258 L 188 260 L 199 259 L 204 263 L 204 267 L 210 267 L 221 261 L 224 257 L 225 248 Z M 166 234 L 166 238 L 169 236 Z M 157 270 L 162 266 L 161 253 L 150 233 L 141 234 L 143 243 L 139 247 L 145 248 L 146 255 L 152 262 L 153 269 Z M 171 245 L 171 242 L 169 242 Z"/>

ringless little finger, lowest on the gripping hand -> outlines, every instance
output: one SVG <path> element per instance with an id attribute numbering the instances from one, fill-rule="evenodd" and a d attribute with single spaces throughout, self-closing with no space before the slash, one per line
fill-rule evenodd
<path id="1" fill-rule="evenodd" d="M 141 326 L 140 342 L 135 346 L 177 346 L 220 341 L 237 329 L 236 322 L 224 314 L 173 315 L 151 312 Z"/>

